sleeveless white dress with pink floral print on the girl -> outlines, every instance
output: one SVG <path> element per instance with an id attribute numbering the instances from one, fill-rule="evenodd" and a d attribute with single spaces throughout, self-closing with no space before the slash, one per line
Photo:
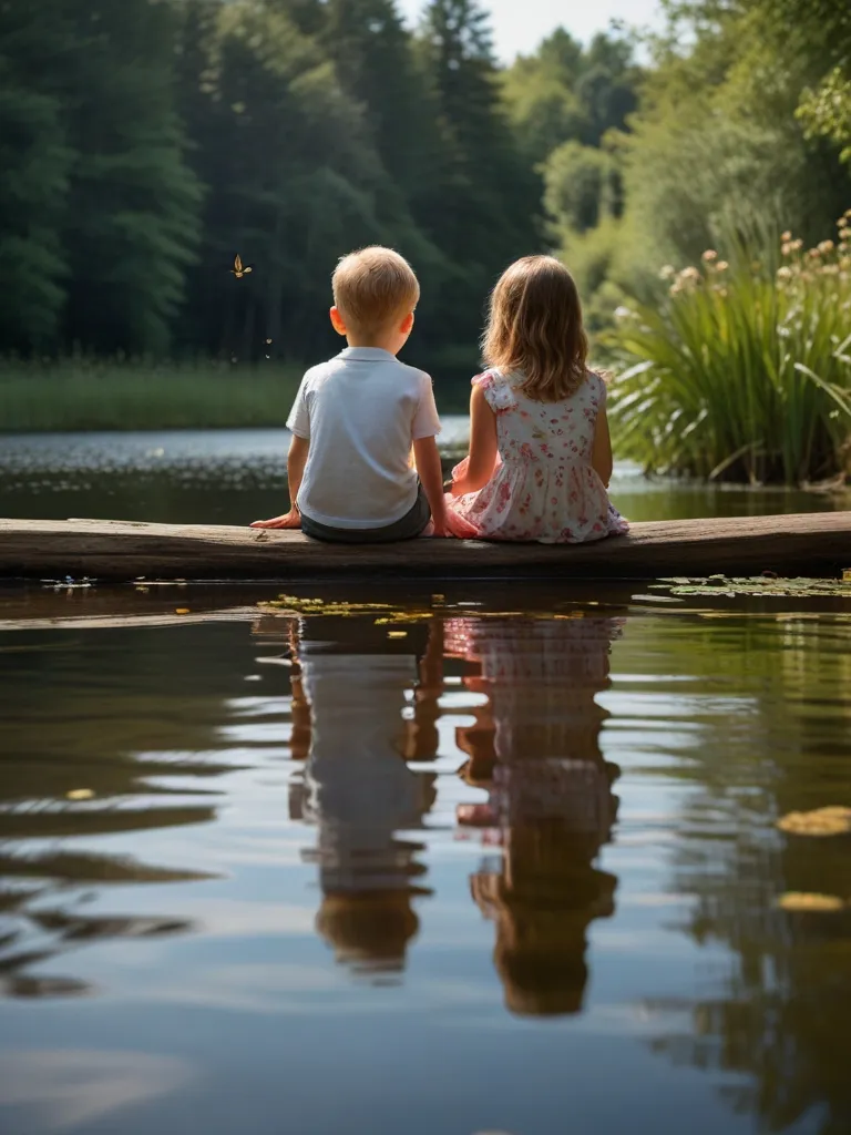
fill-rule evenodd
<path id="1" fill-rule="evenodd" d="M 449 527 L 457 535 L 489 540 L 583 544 L 626 532 L 629 524 L 609 502 L 591 466 L 597 414 L 606 385 L 588 373 L 563 402 L 536 402 L 520 375 L 489 370 L 473 379 L 497 417 L 499 455 L 478 493 L 447 495 Z M 453 470 L 463 476 L 469 459 Z"/>

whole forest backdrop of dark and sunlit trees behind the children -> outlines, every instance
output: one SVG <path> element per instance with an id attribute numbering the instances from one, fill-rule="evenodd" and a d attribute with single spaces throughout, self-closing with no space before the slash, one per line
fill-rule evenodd
<path id="1" fill-rule="evenodd" d="M 0 3 L 0 353 L 307 359 L 337 258 L 381 242 L 452 368 L 516 255 L 556 250 L 605 327 L 731 226 L 829 236 L 846 0 L 664 7 L 500 67 L 475 0 Z"/>

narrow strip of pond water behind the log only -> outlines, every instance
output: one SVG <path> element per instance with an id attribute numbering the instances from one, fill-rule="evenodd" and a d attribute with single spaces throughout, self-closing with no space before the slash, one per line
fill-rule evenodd
<path id="1" fill-rule="evenodd" d="M 447 468 L 469 422 L 444 419 Z M 283 512 L 286 430 L 0 435 L 0 515 L 243 524 Z M 850 507 L 851 494 L 648 481 L 616 463 L 612 495 L 633 520 Z"/>

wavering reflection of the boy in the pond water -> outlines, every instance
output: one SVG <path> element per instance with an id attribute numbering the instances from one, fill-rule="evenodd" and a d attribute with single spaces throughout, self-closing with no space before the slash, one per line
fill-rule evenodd
<path id="1" fill-rule="evenodd" d="M 404 968 L 419 927 L 412 899 L 429 893 L 416 883 L 422 844 L 397 835 L 421 827 L 435 800 L 433 774 L 406 764 L 437 751 L 439 682 L 429 669 L 439 665 L 440 644 L 436 657 L 428 633 L 415 627 L 394 641 L 362 620 L 305 617 L 295 634 L 294 756 L 306 757 L 295 806 L 319 830 L 304 854 L 319 866 L 317 930 L 359 974 Z"/>

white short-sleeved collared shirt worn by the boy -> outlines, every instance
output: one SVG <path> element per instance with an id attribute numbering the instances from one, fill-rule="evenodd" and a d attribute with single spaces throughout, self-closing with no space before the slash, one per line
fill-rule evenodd
<path id="1" fill-rule="evenodd" d="M 331 528 L 385 528 L 416 502 L 415 440 L 440 432 L 431 379 L 347 347 L 302 379 L 287 427 L 310 440 L 298 508 Z"/>

